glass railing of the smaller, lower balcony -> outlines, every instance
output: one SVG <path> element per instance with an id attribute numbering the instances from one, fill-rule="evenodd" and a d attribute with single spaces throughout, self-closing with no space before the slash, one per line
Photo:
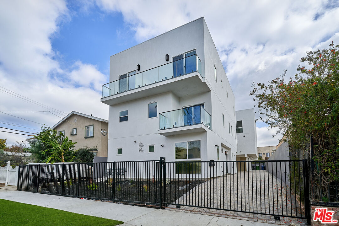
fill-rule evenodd
<path id="1" fill-rule="evenodd" d="M 203 124 L 212 130 L 211 115 L 201 105 L 159 114 L 159 129 Z"/>

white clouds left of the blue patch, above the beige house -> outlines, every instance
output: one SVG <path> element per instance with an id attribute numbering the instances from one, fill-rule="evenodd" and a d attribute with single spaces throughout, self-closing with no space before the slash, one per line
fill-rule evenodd
<path id="1" fill-rule="evenodd" d="M 60 21 L 69 19 L 65 1 L 4 1 L 0 7 L 0 86 L 32 100 L 62 110 L 72 110 L 108 118 L 108 107 L 100 102 L 105 76 L 94 65 L 77 61 L 71 68 L 60 68 L 54 59 L 51 37 Z M 45 108 L 0 91 L 1 111 L 43 111 Z M 53 126 L 61 118 L 43 113 L 10 113 Z M 42 125 L 0 113 L 0 121 L 39 129 Z M 36 132 L 33 129 L 2 127 Z M 1 129 L 5 130 L 5 129 Z M 10 130 L 7 130 L 10 131 Z M 16 132 L 13 131 L 12 132 Z M 20 132 L 19 132 L 20 133 Z M 27 137 L 0 132 L 7 143 Z"/>

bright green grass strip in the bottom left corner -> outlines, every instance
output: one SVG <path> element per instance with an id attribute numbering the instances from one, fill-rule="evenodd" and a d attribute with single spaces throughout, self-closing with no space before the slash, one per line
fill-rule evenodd
<path id="1" fill-rule="evenodd" d="M 0 222 L 6 226 L 113 226 L 121 221 L 0 199 Z"/>

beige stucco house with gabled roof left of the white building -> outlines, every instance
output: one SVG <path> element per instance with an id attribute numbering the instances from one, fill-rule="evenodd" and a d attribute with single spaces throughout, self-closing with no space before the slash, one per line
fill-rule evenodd
<path id="1" fill-rule="evenodd" d="M 95 156 L 107 157 L 108 136 L 103 136 L 101 130 L 108 131 L 108 120 L 72 111 L 52 129 L 77 142 L 74 150 L 85 146 L 96 147 L 97 150 L 93 150 Z"/>

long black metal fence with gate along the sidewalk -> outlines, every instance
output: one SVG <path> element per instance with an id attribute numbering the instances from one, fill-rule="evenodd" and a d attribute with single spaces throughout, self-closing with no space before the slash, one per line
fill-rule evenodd
<path id="1" fill-rule="evenodd" d="M 306 160 L 21 165 L 18 190 L 309 219 Z"/>

